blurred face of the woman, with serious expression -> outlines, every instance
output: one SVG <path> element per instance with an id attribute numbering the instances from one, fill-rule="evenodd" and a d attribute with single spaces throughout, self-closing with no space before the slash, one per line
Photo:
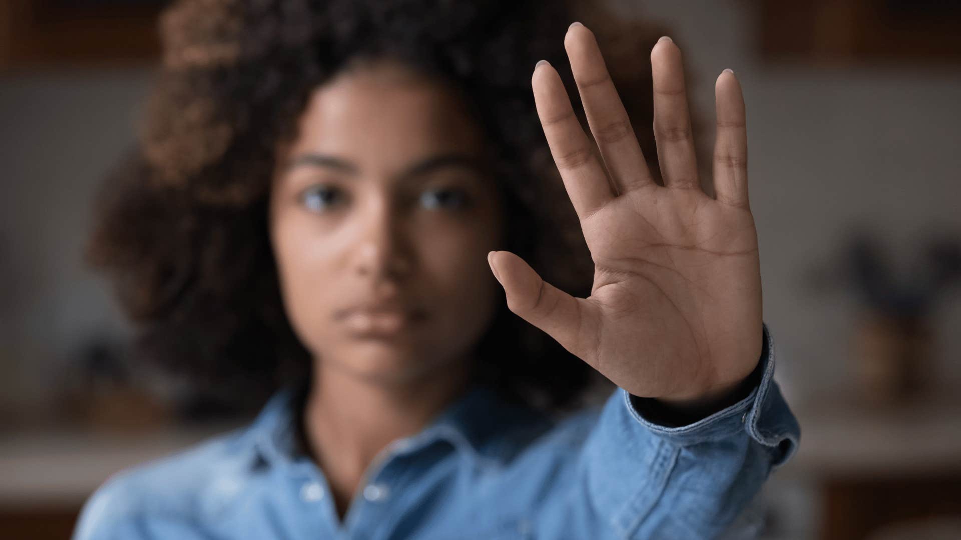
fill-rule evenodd
<path id="1" fill-rule="evenodd" d="M 471 353 L 502 217 L 456 94 L 388 62 L 318 87 L 278 160 L 270 233 L 294 331 L 325 369 L 404 382 Z"/>

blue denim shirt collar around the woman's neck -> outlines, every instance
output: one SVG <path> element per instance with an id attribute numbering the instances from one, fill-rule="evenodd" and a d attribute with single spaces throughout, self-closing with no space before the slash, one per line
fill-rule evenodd
<path id="1" fill-rule="evenodd" d="M 259 455 L 268 463 L 294 464 L 308 460 L 298 451 L 296 406 L 302 391 L 283 388 L 268 400 L 249 431 Z M 498 465 L 505 458 L 504 435 L 519 425 L 546 424 L 547 415 L 523 405 L 506 403 L 487 386 L 475 386 L 441 411 L 420 433 L 398 441 L 415 452 L 435 440 L 445 440 L 458 452 L 481 464 Z"/>

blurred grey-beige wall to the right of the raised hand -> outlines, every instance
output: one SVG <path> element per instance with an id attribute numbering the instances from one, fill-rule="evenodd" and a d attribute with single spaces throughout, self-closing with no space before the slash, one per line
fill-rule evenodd
<path id="1" fill-rule="evenodd" d="M 794 402 L 844 391 L 858 306 L 850 295 L 812 291 L 805 273 L 834 258 L 853 224 L 870 224 L 889 238 L 905 272 L 916 268 L 919 235 L 961 236 L 961 66 L 768 65 L 756 50 L 752 2 L 613 5 L 673 29 L 697 82 L 690 98 L 708 117 L 717 76 L 727 67 L 737 74 L 748 111 L 751 205 L 777 380 Z M 945 300 L 936 361 L 944 382 L 956 385 L 961 288 Z"/>

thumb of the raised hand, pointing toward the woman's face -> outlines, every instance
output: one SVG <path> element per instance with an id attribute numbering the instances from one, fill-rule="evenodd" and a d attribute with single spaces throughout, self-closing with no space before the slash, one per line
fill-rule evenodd
<path id="1" fill-rule="evenodd" d="M 511 311 L 546 331 L 572 354 L 587 360 L 581 344 L 591 343 L 584 332 L 594 325 L 585 324 L 589 310 L 585 300 L 545 282 L 523 258 L 510 252 L 492 251 L 487 254 L 487 263 L 504 287 Z"/>

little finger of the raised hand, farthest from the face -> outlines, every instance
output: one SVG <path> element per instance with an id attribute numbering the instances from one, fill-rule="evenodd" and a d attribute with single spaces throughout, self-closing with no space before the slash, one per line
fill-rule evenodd
<path id="1" fill-rule="evenodd" d="M 748 130 L 741 85 L 725 70 L 714 86 L 717 138 L 714 143 L 714 192 L 720 203 L 749 208 Z"/>

